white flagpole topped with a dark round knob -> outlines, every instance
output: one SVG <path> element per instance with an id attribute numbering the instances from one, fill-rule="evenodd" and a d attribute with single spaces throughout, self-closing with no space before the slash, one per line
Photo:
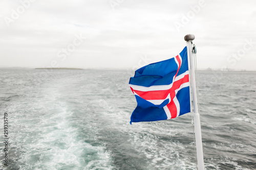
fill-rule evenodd
<path id="1" fill-rule="evenodd" d="M 195 127 L 195 138 L 196 138 L 196 148 L 197 148 L 197 161 L 198 169 L 204 170 L 204 156 L 203 156 L 203 145 L 202 145 L 202 135 L 201 135 L 201 123 L 200 115 L 198 112 L 198 102 L 197 102 L 197 87 L 196 87 L 196 75 L 195 75 L 195 60 L 193 57 L 192 40 L 195 39 L 195 35 L 188 34 L 184 37 L 187 41 L 187 56 L 190 63 L 190 83 L 191 90 L 193 93 L 193 106 L 194 106 L 194 127 Z"/>

